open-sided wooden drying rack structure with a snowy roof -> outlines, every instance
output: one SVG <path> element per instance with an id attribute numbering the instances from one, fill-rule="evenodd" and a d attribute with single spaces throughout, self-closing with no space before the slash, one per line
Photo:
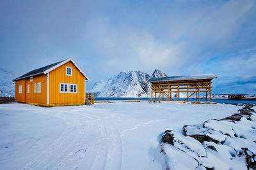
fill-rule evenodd
<path id="1" fill-rule="evenodd" d="M 190 76 L 170 76 L 161 78 L 150 78 L 151 83 L 151 101 L 155 95 L 159 95 L 159 102 L 167 98 L 168 101 L 174 101 L 172 93 L 177 93 L 177 100 L 180 101 L 180 93 L 186 94 L 184 101 L 189 101 L 189 98 L 196 94 L 196 101 L 200 102 L 200 93 L 205 93 L 205 99 L 209 93 L 209 100 L 211 102 L 212 79 L 218 78 L 215 74 L 196 74 Z"/>

